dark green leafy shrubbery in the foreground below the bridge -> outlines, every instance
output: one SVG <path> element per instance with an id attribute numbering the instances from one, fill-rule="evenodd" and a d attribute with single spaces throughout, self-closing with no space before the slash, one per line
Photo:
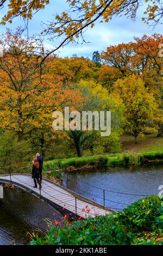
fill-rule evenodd
<path id="1" fill-rule="evenodd" d="M 66 227 L 52 225 L 30 245 L 161 245 L 163 199 L 151 196 L 122 212 L 79 220 Z"/>

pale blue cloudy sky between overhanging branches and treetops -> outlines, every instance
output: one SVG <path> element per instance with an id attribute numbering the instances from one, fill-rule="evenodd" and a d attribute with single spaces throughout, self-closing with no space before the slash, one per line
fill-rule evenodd
<path id="1" fill-rule="evenodd" d="M 29 34 L 39 34 L 42 31 L 41 22 L 46 23 L 47 21 L 51 21 L 53 15 L 56 13 L 60 14 L 62 11 L 66 10 L 66 7 L 66 0 L 51 0 L 50 4 L 47 5 L 44 10 L 36 13 L 33 19 L 29 21 Z M 72 57 L 73 54 L 77 54 L 79 57 L 84 56 L 91 59 L 94 51 L 98 51 L 99 53 L 106 51 L 106 48 L 109 45 L 117 45 L 122 42 L 132 41 L 134 36 L 141 37 L 143 34 L 151 35 L 154 33 L 162 34 L 162 25 L 153 28 L 141 21 L 144 10 L 145 6 L 139 9 L 135 21 L 127 19 L 126 16 L 114 17 L 114 19 L 108 23 L 99 23 L 99 21 L 97 21 L 93 28 L 88 28 L 84 33 L 84 39 L 89 43 L 84 43 L 82 45 L 68 44 L 64 46 L 64 48 L 60 48 L 58 55 L 60 57 Z M 0 10 L 0 17 L 3 16 L 5 11 L 6 9 Z M 13 20 L 11 25 L 8 23 L 5 26 L 0 26 L 0 32 L 4 33 L 6 28 L 15 30 L 18 26 L 24 26 L 20 17 Z M 47 48 L 52 48 L 54 45 L 58 46 L 59 42 L 60 41 L 51 42 L 48 40 L 48 37 L 45 38 L 45 46 Z"/>

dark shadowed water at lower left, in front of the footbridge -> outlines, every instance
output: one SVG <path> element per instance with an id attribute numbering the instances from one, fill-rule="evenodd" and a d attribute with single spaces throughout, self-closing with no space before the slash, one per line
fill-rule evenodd
<path id="1" fill-rule="evenodd" d="M 53 216 L 55 214 L 55 217 Z M 47 204 L 19 188 L 4 188 L 0 199 L 0 245 L 25 245 L 27 232 L 47 229 L 45 219 L 61 221 L 61 214 Z"/>

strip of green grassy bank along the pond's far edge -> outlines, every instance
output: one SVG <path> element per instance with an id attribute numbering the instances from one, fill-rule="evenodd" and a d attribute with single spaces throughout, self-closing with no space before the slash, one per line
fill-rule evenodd
<path id="1" fill-rule="evenodd" d="M 57 175 L 57 170 L 89 169 L 114 166 L 141 166 L 143 164 L 163 163 L 163 151 L 160 152 L 133 152 L 109 155 L 95 155 L 72 157 L 45 162 L 43 172 Z"/>

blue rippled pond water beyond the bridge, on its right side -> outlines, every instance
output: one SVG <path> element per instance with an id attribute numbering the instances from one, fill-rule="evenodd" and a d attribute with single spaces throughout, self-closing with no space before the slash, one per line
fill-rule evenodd
<path id="1" fill-rule="evenodd" d="M 65 174 L 64 186 L 66 178 Z M 115 211 L 125 208 L 145 195 L 158 194 L 160 185 L 163 185 L 163 166 L 109 168 L 101 172 L 95 170 L 68 174 L 70 190 L 101 204 L 104 203 L 105 193 L 105 206 Z"/>

